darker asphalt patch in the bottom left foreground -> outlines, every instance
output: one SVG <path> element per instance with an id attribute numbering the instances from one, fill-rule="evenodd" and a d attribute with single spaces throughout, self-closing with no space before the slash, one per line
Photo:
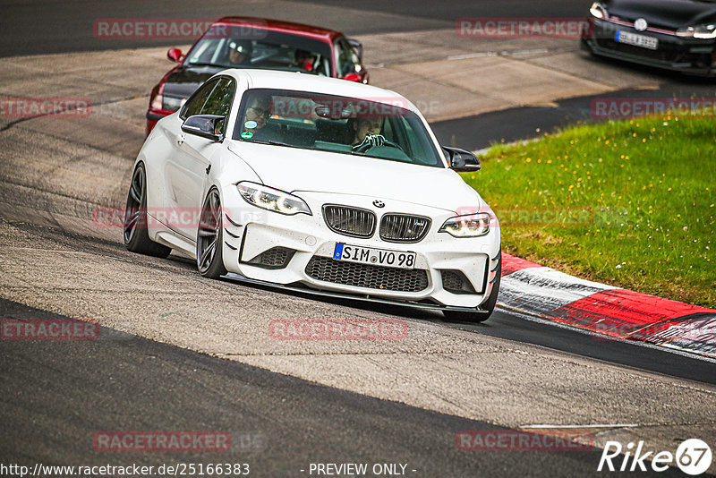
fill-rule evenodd
<path id="1" fill-rule="evenodd" d="M 0 310 L 5 318 L 61 318 L 8 301 Z M 461 451 L 456 431 L 507 429 L 122 335 L 103 328 L 100 337 L 112 339 L 4 344 L 0 373 L 10 393 L 0 414 L 12 439 L 0 444 L 4 463 L 105 464 L 107 454 L 91 448 L 97 431 L 202 430 L 250 437 L 244 445 L 234 438 L 215 463 L 248 463 L 251 476 L 304 476 L 311 463 L 399 463 L 409 476 L 600 475 L 600 449 L 520 452 L 519 460 L 511 451 Z M 212 463 L 198 453 L 122 458 Z"/>

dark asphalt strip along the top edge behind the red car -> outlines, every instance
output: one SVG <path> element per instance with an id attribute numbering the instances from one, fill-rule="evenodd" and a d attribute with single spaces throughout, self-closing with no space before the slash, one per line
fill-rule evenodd
<path id="1" fill-rule="evenodd" d="M 306 18 L 303 3 L 330 7 L 320 18 Z M 92 23 L 102 18 L 207 18 L 236 14 L 320 23 L 351 34 L 451 28 L 461 17 L 582 17 L 589 0 L 530 2 L 461 0 L 458 2 L 174 2 L 170 0 L 3 0 L 0 2 L 0 56 L 38 55 L 113 48 L 92 36 Z M 347 14 L 345 9 L 357 12 Z M 124 47 L 169 46 L 172 40 L 125 42 Z"/>

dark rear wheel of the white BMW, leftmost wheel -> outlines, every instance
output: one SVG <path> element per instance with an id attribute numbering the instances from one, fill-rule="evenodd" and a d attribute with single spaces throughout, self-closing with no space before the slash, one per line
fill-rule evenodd
<path id="1" fill-rule="evenodd" d="M 134 169 L 124 209 L 124 246 L 130 252 L 166 258 L 172 250 L 149 239 L 147 222 L 147 172 L 140 163 Z"/>

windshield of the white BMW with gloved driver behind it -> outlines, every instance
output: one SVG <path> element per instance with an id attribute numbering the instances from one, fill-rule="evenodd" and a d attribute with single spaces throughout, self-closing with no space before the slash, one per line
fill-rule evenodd
<path id="1" fill-rule="evenodd" d="M 234 140 L 445 167 L 420 117 L 393 99 L 247 90 Z"/>

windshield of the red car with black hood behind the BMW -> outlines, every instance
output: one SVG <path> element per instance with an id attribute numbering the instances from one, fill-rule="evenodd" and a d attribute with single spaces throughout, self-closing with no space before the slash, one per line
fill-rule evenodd
<path id="1" fill-rule="evenodd" d="M 261 68 L 331 76 L 330 45 L 290 33 L 214 25 L 192 47 L 184 66 Z"/>

